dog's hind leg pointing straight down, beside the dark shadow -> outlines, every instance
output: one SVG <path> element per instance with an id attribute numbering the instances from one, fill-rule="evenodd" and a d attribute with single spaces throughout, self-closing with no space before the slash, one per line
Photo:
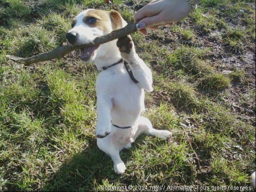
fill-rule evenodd
<path id="1" fill-rule="evenodd" d="M 103 139 L 97 138 L 98 147 L 104 151 L 107 155 L 111 157 L 114 163 L 114 171 L 117 174 L 122 174 L 126 170 L 126 166 L 121 160 L 119 155 L 120 151 L 123 149 L 124 144 L 118 144 L 112 139 L 112 135 L 109 135 Z"/>

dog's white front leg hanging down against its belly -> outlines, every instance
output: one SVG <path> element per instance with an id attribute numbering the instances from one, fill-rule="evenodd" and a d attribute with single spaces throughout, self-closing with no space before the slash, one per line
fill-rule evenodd
<path id="1" fill-rule="evenodd" d="M 111 132 L 111 109 L 113 103 L 110 96 L 106 94 L 97 95 L 97 125 L 96 137 L 104 138 Z"/>

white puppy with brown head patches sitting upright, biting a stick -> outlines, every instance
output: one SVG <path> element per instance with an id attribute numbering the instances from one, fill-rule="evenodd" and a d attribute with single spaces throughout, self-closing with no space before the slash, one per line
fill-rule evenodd
<path id="1" fill-rule="evenodd" d="M 88 9 L 75 17 L 66 37 L 70 45 L 80 45 L 126 25 L 117 11 Z M 80 59 L 94 62 L 101 71 L 96 80 L 97 145 L 112 158 L 114 171 L 122 174 L 126 166 L 119 153 L 130 148 L 140 133 L 160 139 L 172 136 L 170 131 L 152 128 L 149 119 L 140 116 L 145 110 L 144 90 L 153 91 L 152 72 L 136 53 L 131 36 L 80 49 Z"/>

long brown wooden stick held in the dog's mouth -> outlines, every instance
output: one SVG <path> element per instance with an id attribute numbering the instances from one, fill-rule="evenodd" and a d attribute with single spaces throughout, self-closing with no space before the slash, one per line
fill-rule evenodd
<path id="1" fill-rule="evenodd" d="M 23 59 L 23 58 L 12 56 L 12 55 L 6 55 L 6 57 L 8 57 L 9 59 L 15 60 L 19 63 L 23 63 L 26 66 L 37 63 L 37 62 L 41 62 L 41 61 L 48 61 L 51 59 L 62 58 L 67 53 L 70 53 L 76 49 L 93 47 L 96 45 L 107 43 L 109 41 L 112 41 L 112 40 L 120 38 L 120 37 L 125 37 L 127 35 L 130 35 L 138 30 L 136 27 L 136 24 L 137 23 L 128 24 L 126 27 L 124 27 L 122 29 L 113 31 L 113 32 L 111 32 L 107 35 L 103 35 L 101 37 L 97 37 L 91 43 L 88 43 L 88 44 L 83 44 L 83 45 L 78 45 L 78 46 L 70 46 L 70 45 L 60 46 L 60 47 L 57 47 L 56 49 L 54 49 L 53 51 L 50 51 L 47 53 L 42 53 L 42 54 L 27 58 L 27 59 Z"/>

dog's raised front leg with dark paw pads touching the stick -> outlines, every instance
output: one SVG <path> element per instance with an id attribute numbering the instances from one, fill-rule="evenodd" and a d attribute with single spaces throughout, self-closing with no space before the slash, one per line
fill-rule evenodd
<path id="1" fill-rule="evenodd" d="M 126 37 L 119 38 L 117 41 L 117 47 L 121 52 L 122 58 L 130 65 L 134 78 L 139 81 L 139 87 L 145 91 L 153 91 L 152 72 L 136 53 L 132 37 L 128 35 Z"/>

